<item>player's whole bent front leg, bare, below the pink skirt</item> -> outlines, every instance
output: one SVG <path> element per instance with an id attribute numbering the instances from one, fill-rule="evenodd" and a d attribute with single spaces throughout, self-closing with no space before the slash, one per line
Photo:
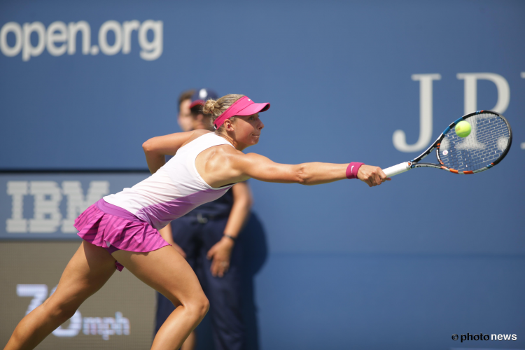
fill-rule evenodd
<path id="1" fill-rule="evenodd" d="M 116 251 L 113 257 L 176 307 L 158 330 L 151 349 L 179 349 L 209 309 L 208 299 L 188 262 L 171 246 L 148 253 Z"/>

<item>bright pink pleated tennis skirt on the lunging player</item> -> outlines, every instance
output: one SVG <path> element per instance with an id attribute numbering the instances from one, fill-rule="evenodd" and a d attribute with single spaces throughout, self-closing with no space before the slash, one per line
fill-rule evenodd
<path id="1" fill-rule="evenodd" d="M 142 221 L 126 209 L 99 200 L 78 216 L 74 224 L 78 234 L 85 241 L 114 251 L 155 251 L 170 244 L 158 230 Z M 118 271 L 123 265 L 115 262 Z"/>

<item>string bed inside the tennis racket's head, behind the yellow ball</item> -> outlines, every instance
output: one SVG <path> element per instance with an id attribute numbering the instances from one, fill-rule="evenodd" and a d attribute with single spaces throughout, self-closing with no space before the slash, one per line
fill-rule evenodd
<path id="1" fill-rule="evenodd" d="M 505 120 L 496 114 L 480 113 L 466 121 L 472 126 L 470 135 L 458 137 L 452 128 L 442 140 L 438 155 L 447 168 L 475 172 L 500 158 L 510 132 Z"/>

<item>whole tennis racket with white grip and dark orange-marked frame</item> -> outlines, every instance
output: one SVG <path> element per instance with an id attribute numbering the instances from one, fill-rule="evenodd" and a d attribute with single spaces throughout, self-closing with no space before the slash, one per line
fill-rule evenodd
<path id="1" fill-rule="evenodd" d="M 467 137 L 458 137 L 454 130 L 462 120 L 472 127 Z M 410 169 L 430 167 L 454 174 L 475 174 L 501 162 L 511 144 L 512 130 L 505 117 L 493 111 L 477 111 L 449 125 L 434 144 L 419 157 L 383 169 L 383 172 L 386 176 L 394 176 Z M 434 150 L 439 164 L 420 163 Z"/>

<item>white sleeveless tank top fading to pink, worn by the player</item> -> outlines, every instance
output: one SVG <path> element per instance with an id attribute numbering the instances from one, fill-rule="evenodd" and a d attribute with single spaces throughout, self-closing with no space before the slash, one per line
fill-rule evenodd
<path id="1" fill-rule="evenodd" d="M 202 179 L 195 167 L 197 155 L 218 145 L 232 146 L 214 132 L 197 137 L 179 148 L 176 155 L 148 179 L 115 195 L 106 196 L 104 200 L 130 211 L 160 230 L 201 204 L 221 197 L 233 186 L 213 188 Z"/>

